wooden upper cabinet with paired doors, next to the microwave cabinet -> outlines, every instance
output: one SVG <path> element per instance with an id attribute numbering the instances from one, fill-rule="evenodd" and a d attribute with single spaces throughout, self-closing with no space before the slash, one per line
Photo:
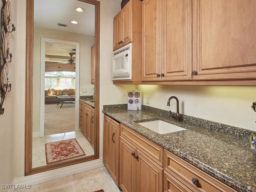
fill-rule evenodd
<path id="1" fill-rule="evenodd" d="M 191 80 L 191 0 L 142 2 L 142 81 Z"/>

